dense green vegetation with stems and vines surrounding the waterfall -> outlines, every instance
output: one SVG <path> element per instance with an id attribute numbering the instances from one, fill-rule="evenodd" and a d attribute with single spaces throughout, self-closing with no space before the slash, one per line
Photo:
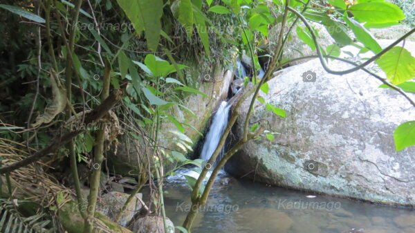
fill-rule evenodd
<path id="1" fill-rule="evenodd" d="M 406 20 L 413 24 L 411 6 L 405 1 L 396 3 L 409 9 Z M 248 140 L 273 140 L 266 125 L 250 125 L 249 118 L 256 100 L 285 117 L 284 109 L 267 103 L 260 93 L 268 93 L 267 82 L 274 71 L 292 62 L 284 59 L 284 49 L 295 33 L 316 51 L 313 57 L 320 59 L 327 72 L 342 75 L 362 69 L 415 107 L 407 94 L 415 88 L 415 58 L 401 46 L 414 29 L 387 48 L 381 48 L 369 32 L 370 28 L 387 28 L 405 20 L 404 12 L 386 1 L 8 0 L 0 10 L 0 194 L 4 198 L 0 218 L 3 214 L 1 219 L 8 219 L 0 221 L 0 229 L 17 229 L 21 223 L 35 232 L 42 228 L 71 232 L 68 229 L 78 222 L 68 223 L 62 216 L 75 212 L 68 205 L 77 205 L 84 221 L 77 227 L 93 232 L 95 219 L 101 219 L 95 207 L 103 192 L 102 172 L 111 173 L 101 169 L 106 151 L 129 140 L 140 147 L 141 161 L 132 174 L 138 180 L 132 196 L 149 184 L 156 190 L 151 211 L 164 219 L 163 178 L 186 164 L 199 166 L 199 179 L 187 180 L 195 208 L 183 227 L 178 227 L 190 232 L 196 210 L 206 203 L 225 162 Z M 320 46 L 317 24 L 326 28 L 335 44 Z M 345 60 L 340 57 L 340 48 L 348 45 L 374 56 L 358 62 Z M 196 117 L 184 100 L 190 95 L 208 97 L 199 91 L 200 67 L 211 70 L 222 64 L 232 68 L 232 50 L 239 55 L 247 51 L 253 63 L 252 77 L 245 77 L 244 91 L 234 97 L 228 127 L 208 163 L 214 164 L 218 158 L 244 100 L 250 100 L 250 109 L 243 137 L 228 149 L 203 185 L 209 170 L 206 161 L 187 156 L 194 145 L 185 129 L 192 125 L 179 120 L 172 109 L 185 111 L 188 118 Z M 330 59 L 353 68 L 335 71 L 329 67 Z M 365 68 L 372 62 L 386 77 Z M 265 75 L 259 78 L 261 68 Z M 160 142 L 164 124 L 176 127 L 172 139 L 175 149 Z M 398 151 L 415 145 L 415 121 L 401 124 L 394 139 Z M 77 171 L 81 165 L 91 171 L 87 200 L 82 198 Z M 61 176 L 65 172 L 71 174 L 72 183 L 65 183 Z M 33 193 L 12 193 L 19 183 L 36 183 L 33 177 L 41 177 L 53 188 L 42 190 L 42 185 L 34 185 L 34 193 L 43 196 L 37 195 L 31 202 L 25 199 Z M 19 209 L 13 209 L 8 199 L 18 199 Z"/>

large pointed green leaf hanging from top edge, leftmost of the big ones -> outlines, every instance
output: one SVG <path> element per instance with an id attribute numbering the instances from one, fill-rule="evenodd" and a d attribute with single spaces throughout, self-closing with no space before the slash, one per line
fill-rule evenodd
<path id="1" fill-rule="evenodd" d="M 163 15 L 163 0 L 117 0 L 137 33 L 145 31 L 147 46 L 157 50 Z"/>

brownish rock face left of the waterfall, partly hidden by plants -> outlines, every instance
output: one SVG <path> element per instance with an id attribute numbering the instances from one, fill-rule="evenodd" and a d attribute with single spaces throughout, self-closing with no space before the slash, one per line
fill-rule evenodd
<path id="1" fill-rule="evenodd" d="M 184 125 L 189 124 L 196 129 L 194 130 L 191 127 L 185 127 L 184 132 L 185 135 L 194 142 L 194 145 L 196 145 L 196 142 L 201 138 L 199 132 L 203 133 L 203 131 L 205 131 L 205 127 L 214 109 L 216 109 L 222 100 L 225 100 L 228 96 L 233 73 L 232 71 L 225 71 L 220 66 L 216 66 L 211 74 L 199 74 L 199 79 L 201 80 L 199 91 L 205 93 L 208 97 L 190 95 L 183 100 L 183 106 L 187 106 L 196 117 L 183 111 L 183 109 L 179 109 L 178 106 L 173 106 L 171 108 L 172 112 L 170 113 L 170 115 L 173 115 Z M 174 142 L 176 142 L 176 140 L 174 140 L 176 135 L 174 133 L 169 133 L 169 131 L 172 130 L 177 131 L 178 129 L 172 123 L 163 123 L 160 131 L 160 145 L 164 145 L 163 147 L 166 149 L 176 149 L 177 147 L 174 144 Z M 114 153 L 115 150 L 112 150 L 110 151 L 109 156 L 107 156 L 107 167 L 109 168 L 109 171 L 124 176 L 137 174 L 136 169 L 142 165 L 142 162 L 139 162 L 140 159 L 142 159 L 140 156 L 151 154 L 152 149 L 146 148 L 144 142 L 131 142 L 124 137 L 119 138 L 119 141 L 121 144 L 118 145 L 117 153 Z"/>

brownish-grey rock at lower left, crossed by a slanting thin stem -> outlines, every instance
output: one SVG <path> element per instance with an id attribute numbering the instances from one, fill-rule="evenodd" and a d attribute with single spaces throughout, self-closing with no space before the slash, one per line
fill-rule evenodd
<path id="1" fill-rule="evenodd" d="M 120 192 L 110 192 L 104 194 L 101 198 L 98 199 L 97 211 L 101 214 L 108 216 L 112 221 L 116 220 L 117 214 L 120 212 L 120 209 L 127 201 L 129 194 L 123 194 Z M 134 214 L 140 212 L 142 205 L 138 198 L 142 198 L 142 194 L 136 194 L 133 200 L 127 205 L 127 209 L 122 213 L 120 221 L 118 224 L 123 227 L 126 226 L 129 221 L 133 218 Z"/>

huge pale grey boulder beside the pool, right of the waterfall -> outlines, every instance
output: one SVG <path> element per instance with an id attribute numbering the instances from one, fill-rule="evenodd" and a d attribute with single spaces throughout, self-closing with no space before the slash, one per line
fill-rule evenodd
<path id="1" fill-rule="evenodd" d="M 315 72 L 315 82 L 303 82 L 306 71 Z M 248 142 L 226 171 L 270 185 L 415 206 L 415 148 L 396 152 L 393 139 L 399 124 L 415 120 L 403 96 L 378 88 L 381 83 L 362 71 L 329 75 L 317 59 L 286 68 L 268 84 L 268 95 L 261 95 L 285 109 L 286 118 L 256 102 L 252 122 L 264 119 L 278 134 L 273 142 Z M 248 104 L 241 107 L 237 136 Z"/>

